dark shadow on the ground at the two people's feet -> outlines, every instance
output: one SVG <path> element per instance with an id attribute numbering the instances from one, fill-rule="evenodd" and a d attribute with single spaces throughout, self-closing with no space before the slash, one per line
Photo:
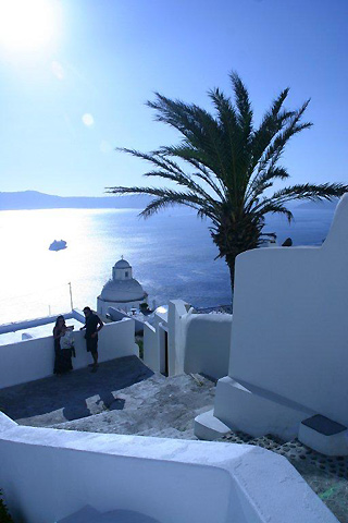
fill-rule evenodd
<path id="1" fill-rule="evenodd" d="M 0 410 L 22 425 L 47 426 L 122 410 L 117 391 L 153 375 L 136 356 L 0 390 Z"/>

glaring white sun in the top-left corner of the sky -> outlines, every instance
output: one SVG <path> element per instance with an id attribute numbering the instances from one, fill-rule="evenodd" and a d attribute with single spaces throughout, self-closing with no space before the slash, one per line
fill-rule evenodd
<path id="1" fill-rule="evenodd" d="M 57 0 L 0 0 L 0 46 L 8 51 L 35 51 L 55 36 Z"/>

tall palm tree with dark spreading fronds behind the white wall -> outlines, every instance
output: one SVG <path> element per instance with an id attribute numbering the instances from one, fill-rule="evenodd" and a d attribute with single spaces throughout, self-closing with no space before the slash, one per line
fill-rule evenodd
<path id="1" fill-rule="evenodd" d="M 147 105 L 156 110 L 156 119 L 182 134 L 178 145 L 163 146 L 151 153 L 122 148 L 154 166 L 145 177 L 158 177 L 178 185 L 170 187 L 108 187 L 114 194 L 147 194 L 154 198 L 140 212 L 148 218 L 172 205 L 186 205 L 198 217 L 211 221 L 210 233 L 217 245 L 217 257 L 224 257 L 234 288 L 236 256 L 256 248 L 265 241 L 262 232 L 268 212 L 293 214 L 286 207 L 294 199 L 332 199 L 348 191 L 340 183 L 298 184 L 275 191 L 270 188 L 289 174 L 278 166 L 287 142 L 312 124 L 301 123 L 310 100 L 288 111 L 283 104 L 289 89 L 284 89 L 253 127 L 248 92 L 236 73 L 231 74 L 235 105 L 221 89 L 211 89 L 215 115 L 194 105 L 172 100 L 156 93 L 156 101 Z M 178 162 L 177 162 L 178 160 Z M 188 166 L 189 172 L 182 166 Z"/>

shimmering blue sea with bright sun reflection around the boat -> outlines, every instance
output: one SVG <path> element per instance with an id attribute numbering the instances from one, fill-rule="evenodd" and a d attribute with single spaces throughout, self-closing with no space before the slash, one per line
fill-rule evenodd
<path id="1" fill-rule="evenodd" d="M 97 307 L 97 296 L 122 256 L 148 292 L 149 306 L 183 299 L 197 308 L 231 303 L 229 273 L 216 259 L 210 222 L 189 209 L 147 220 L 139 209 L 0 211 L 0 324 L 58 315 L 71 305 Z M 333 208 L 295 208 L 295 220 L 270 216 L 264 232 L 281 245 L 321 245 Z M 49 251 L 53 240 L 66 241 Z"/>

